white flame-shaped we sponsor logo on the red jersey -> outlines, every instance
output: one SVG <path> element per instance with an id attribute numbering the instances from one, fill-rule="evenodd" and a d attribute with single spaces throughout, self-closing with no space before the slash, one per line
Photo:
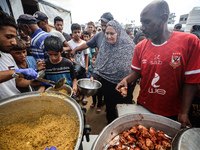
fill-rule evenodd
<path id="1" fill-rule="evenodd" d="M 154 78 L 152 79 L 151 81 L 151 86 L 152 87 L 149 87 L 148 89 L 148 92 L 151 93 L 151 94 L 160 94 L 160 95 L 165 95 L 166 94 L 166 91 L 164 89 L 159 89 L 158 87 L 160 87 L 160 85 L 156 84 L 158 81 L 160 80 L 160 76 L 155 73 L 155 76 Z"/>

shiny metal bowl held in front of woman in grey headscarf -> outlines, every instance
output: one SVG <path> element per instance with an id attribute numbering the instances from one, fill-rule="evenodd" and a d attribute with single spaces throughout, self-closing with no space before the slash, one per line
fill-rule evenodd
<path id="1" fill-rule="evenodd" d="M 83 78 L 77 81 L 77 86 L 81 94 L 86 96 L 93 96 L 97 93 L 98 89 L 101 88 L 102 84 L 97 80 L 91 82 L 90 79 Z"/>

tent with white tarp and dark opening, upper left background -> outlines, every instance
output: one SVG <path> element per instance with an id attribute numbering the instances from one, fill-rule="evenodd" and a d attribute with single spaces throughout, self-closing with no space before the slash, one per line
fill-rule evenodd
<path id="1" fill-rule="evenodd" d="M 54 26 L 54 17 L 60 16 L 64 20 L 63 31 L 71 33 L 71 12 L 52 4 L 49 0 L 1 0 L 0 7 L 16 20 L 21 14 L 33 15 L 39 10 L 48 16 L 48 23 L 52 27 Z"/>

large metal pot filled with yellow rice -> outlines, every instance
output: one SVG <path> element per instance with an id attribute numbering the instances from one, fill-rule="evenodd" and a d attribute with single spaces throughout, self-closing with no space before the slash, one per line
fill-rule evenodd
<path id="1" fill-rule="evenodd" d="M 78 150 L 83 113 L 71 97 L 59 92 L 27 92 L 0 102 L 0 149 Z"/>

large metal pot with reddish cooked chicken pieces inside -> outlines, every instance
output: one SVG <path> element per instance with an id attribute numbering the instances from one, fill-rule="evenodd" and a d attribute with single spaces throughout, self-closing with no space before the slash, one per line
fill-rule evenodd
<path id="1" fill-rule="evenodd" d="M 180 127 L 156 114 L 126 114 L 101 131 L 92 150 L 170 150 Z"/>

